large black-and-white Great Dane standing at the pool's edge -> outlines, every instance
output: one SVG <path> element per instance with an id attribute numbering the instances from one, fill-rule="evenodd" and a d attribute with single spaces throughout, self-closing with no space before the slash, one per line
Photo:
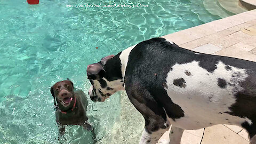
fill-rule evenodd
<path id="1" fill-rule="evenodd" d="M 87 76 L 94 102 L 126 91 L 145 118 L 140 143 L 156 143 L 170 124 L 170 143 L 215 124 L 242 126 L 256 143 L 256 62 L 153 38 L 87 66 Z"/>

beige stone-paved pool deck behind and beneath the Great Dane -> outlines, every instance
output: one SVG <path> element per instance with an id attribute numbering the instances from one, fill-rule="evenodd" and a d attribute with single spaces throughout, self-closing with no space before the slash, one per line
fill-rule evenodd
<path id="1" fill-rule="evenodd" d="M 196 52 L 256 61 L 256 35 L 253 31 L 256 33 L 256 10 L 163 37 L 170 39 L 180 47 Z M 164 133 L 161 139 L 168 139 L 168 133 L 169 131 Z M 249 139 L 242 127 L 220 124 L 195 131 L 186 130 L 182 135 L 181 144 L 190 143 L 247 144 Z"/>

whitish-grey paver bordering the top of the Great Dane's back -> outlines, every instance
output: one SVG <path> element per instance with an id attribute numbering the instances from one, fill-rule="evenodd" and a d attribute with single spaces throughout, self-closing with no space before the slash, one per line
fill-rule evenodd
<path id="1" fill-rule="evenodd" d="M 202 46 L 198 46 L 195 49 L 192 49 L 192 51 L 207 53 L 207 54 L 213 54 L 213 53 L 218 52 L 220 50 L 222 50 L 220 47 L 215 46 L 213 44 L 205 44 L 205 45 L 202 45 Z"/>

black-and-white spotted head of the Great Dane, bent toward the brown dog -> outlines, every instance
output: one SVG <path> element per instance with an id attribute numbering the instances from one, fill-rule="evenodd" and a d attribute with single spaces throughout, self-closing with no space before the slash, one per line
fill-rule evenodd
<path id="1" fill-rule="evenodd" d="M 121 69 L 113 66 L 118 63 L 117 60 L 113 58 L 114 56 L 115 55 L 109 55 L 102 58 L 98 63 L 87 66 L 87 77 L 92 84 L 88 94 L 94 102 L 103 102 L 109 98 L 110 95 L 123 89 L 122 74 L 121 76 L 113 78 L 113 76 L 115 76 L 113 73 L 118 73 L 118 75 L 121 73 Z"/>

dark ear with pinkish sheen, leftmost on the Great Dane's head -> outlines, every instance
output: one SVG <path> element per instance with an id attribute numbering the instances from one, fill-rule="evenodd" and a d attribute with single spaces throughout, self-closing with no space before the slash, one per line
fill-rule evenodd
<path id="1" fill-rule="evenodd" d="M 88 79 L 101 79 L 106 73 L 100 63 L 88 65 L 86 71 Z"/>

